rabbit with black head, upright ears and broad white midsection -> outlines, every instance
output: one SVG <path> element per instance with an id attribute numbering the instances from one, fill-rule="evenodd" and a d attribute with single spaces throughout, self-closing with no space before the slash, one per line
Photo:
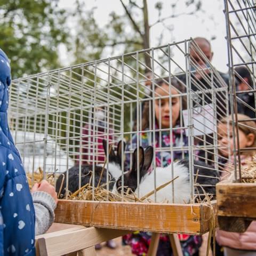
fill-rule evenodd
<path id="1" fill-rule="evenodd" d="M 154 172 L 148 172 L 151 162 L 153 161 L 153 147 L 149 146 L 144 151 L 139 147 L 139 193 L 140 198 L 147 195 L 150 191 L 154 190 Z M 194 161 L 194 165 L 203 167 L 194 167 L 194 173 L 197 173 L 197 183 L 200 185 L 211 185 L 203 187 L 206 193 L 215 195 L 215 184 L 219 181 L 218 172 L 211 170 L 210 165 L 202 161 Z M 210 169 L 208 169 L 210 168 Z M 171 165 L 167 167 L 156 168 L 156 187 L 172 180 Z M 208 177 L 202 177 L 206 175 Z M 174 202 L 175 203 L 188 203 L 190 201 L 190 184 L 189 184 L 189 162 L 187 159 L 173 163 L 173 177 L 179 178 L 173 181 L 174 183 Z M 210 176 L 210 177 L 209 177 Z M 114 185 L 113 192 L 121 193 L 122 177 L 119 177 Z M 130 188 L 135 194 L 138 195 L 137 188 L 137 149 L 133 152 L 133 163 L 130 171 L 124 174 L 124 191 Z M 204 194 L 201 187 L 197 187 L 199 194 Z M 197 193 L 197 190 L 196 190 Z M 157 191 L 157 202 L 164 202 L 165 200 L 172 202 L 172 183 Z M 148 197 L 152 201 L 155 200 L 154 194 Z M 201 199 L 203 196 L 201 196 Z"/>

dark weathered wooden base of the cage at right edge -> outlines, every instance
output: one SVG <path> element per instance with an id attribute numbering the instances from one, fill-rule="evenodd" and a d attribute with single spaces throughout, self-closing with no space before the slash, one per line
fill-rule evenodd
<path id="1" fill-rule="evenodd" d="M 256 220 L 256 183 L 218 183 L 217 211 L 221 230 L 244 232 Z"/>

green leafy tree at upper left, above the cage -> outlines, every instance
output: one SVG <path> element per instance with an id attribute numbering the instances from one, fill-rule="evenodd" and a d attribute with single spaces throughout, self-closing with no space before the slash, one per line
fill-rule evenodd
<path id="1" fill-rule="evenodd" d="M 0 5 L 0 47 L 11 60 L 12 77 L 59 67 L 68 13 L 58 0 L 1 0 Z"/>

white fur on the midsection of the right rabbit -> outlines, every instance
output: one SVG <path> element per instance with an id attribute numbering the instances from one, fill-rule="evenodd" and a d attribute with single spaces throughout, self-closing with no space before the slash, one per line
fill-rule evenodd
<path id="1" fill-rule="evenodd" d="M 163 185 L 164 183 L 172 180 L 171 165 L 161 168 L 156 168 L 156 187 Z M 180 165 L 179 162 L 173 164 L 173 178 L 179 176 L 174 183 L 174 203 L 188 203 L 190 199 L 190 185 L 189 185 L 189 171 L 186 166 Z M 156 193 L 156 202 L 169 201 L 172 203 L 172 183 L 166 187 L 160 189 Z M 140 198 L 154 190 L 154 172 L 146 174 L 140 183 Z M 138 188 L 135 190 L 135 194 L 138 195 Z M 148 197 L 153 202 L 155 201 L 155 195 Z"/>

